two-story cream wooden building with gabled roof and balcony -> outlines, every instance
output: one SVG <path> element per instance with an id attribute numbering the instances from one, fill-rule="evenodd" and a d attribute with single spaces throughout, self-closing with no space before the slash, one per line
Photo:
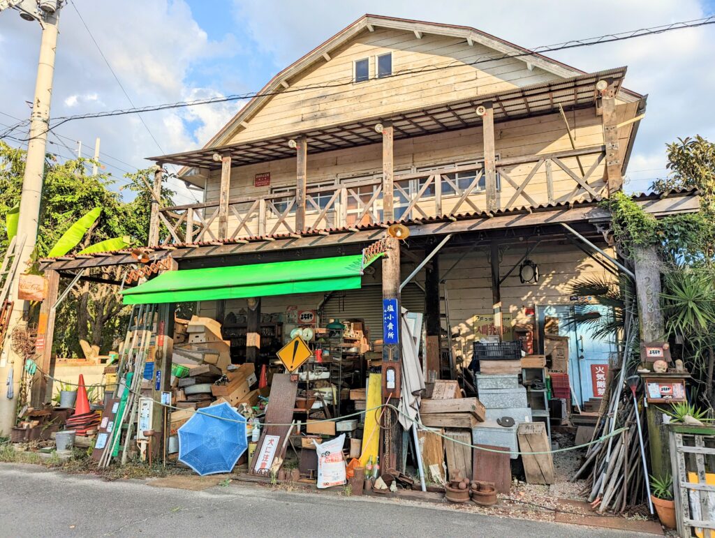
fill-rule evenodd
<path id="1" fill-rule="evenodd" d="M 297 307 L 364 319 L 376 340 L 382 299 L 397 295 L 425 314 L 428 379 L 468 364 L 485 334 L 530 326 L 538 350 L 545 319 L 573 309 L 571 283 L 618 272 L 599 201 L 623 186 L 646 98 L 604 62 L 584 73 L 468 26 L 363 16 L 280 71 L 204 148 L 152 157 L 184 166 L 204 201 L 154 204 L 152 259 L 172 256 L 188 278 L 125 299 L 197 301 L 217 319 L 246 311 L 249 332 L 261 314 Z M 688 194 L 637 200 L 654 214 L 696 207 Z M 395 222 L 408 239 L 386 241 L 381 260 L 322 271 Z M 289 276 L 270 265 L 296 260 L 312 263 Z M 119 252 L 45 266 L 134 263 Z M 248 264 L 266 264 L 260 282 L 187 273 Z M 559 330 L 588 399 L 588 364 L 606 362 L 613 342 Z"/>

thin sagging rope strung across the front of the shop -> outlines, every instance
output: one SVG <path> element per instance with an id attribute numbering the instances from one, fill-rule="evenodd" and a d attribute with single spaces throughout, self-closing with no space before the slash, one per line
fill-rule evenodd
<path id="1" fill-rule="evenodd" d="M 50 376 L 49 374 L 45 374 L 45 373 L 42 372 L 40 369 L 38 369 L 38 372 L 40 372 L 40 373 L 41 373 L 44 377 L 46 377 L 47 379 L 52 379 L 53 381 L 59 381 L 59 379 L 56 379 L 56 378 Z M 79 384 L 76 384 L 76 383 L 65 383 L 65 384 L 66 384 L 66 385 L 70 385 L 70 386 L 72 386 L 72 387 L 79 387 Z M 119 383 L 117 383 L 117 385 L 119 385 Z M 98 385 L 93 385 L 93 386 L 94 386 L 94 387 L 97 387 Z M 99 385 L 99 386 L 106 387 L 107 385 Z M 142 395 L 141 392 L 134 392 L 134 391 L 132 391 L 131 389 L 129 389 L 129 387 L 126 387 L 126 386 L 125 386 L 124 388 L 125 388 L 126 390 L 128 390 L 129 392 L 132 392 L 132 394 L 134 394 L 135 396 L 139 396 L 139 397 L 141 397 L 141 398 L 146 398 L 146 399 L 151 399 L 152 402 L 154 402 L 155 404 L 159 404 L 160 406 L 166 407 L 167 409 L 172 409 L 172 410 L 176 410 L 176 411 L 189 411 L 189 412 L 192 412 L 192 413 L 202 414 L 202 415 L 204 415 L 204 417 L 212 417 L 212 418 L 214 418 L 214 419 L 223 420 L 223 421 L 225 421 L 225 422 L 235 422 L 235 423 L 237 423 L 237 424 L 244 424 L 244 421 L 242 421 L 242 420 L 230 419 L 230 418 L 227 418 L 227 417 L 216 417 L 215 415 L 212 415 L 212 414 L 210 414 L 210 413 L 203 412 L 202 409 L 182 409 L 181 407 L 176 407 L 176 406 L 173 406 L 173 405 L 171 405 L 171 404 L 164 404 L 164 403 L 162 403 L 161 401 L 159 401 L 159 400 L 157 400 L 157 399 L 149 398 L 149 397 L 147 397 L 147 396 Z M 340 417 L 340 419 L 349 419 L 350 417 L 359 417 L 360 415 L 366 414 L 366 413 L 369 413 L 369 412 L 373 412 L 373 411 L 374 411 L 374 412 L 377 412 L 379 409 L 383 409 L 383 408 L 385 408 L 385 407 L 386 407 L 386 408 L 393 409 L 393 411 L 395 411 L 396 414 L 401 415 L 401 416 L 405 417 L 406 419 L 408 419 L 409 422 L 411 422 L 411 423 L 414 424 L 416 427 L 418 427 L 418 430 L 421 430 L 421 431 L 423 431 L 423 432 L 432 432 L 433 434 L 436 434 L 436 435 L 438 435 L 439 437 L 442 437 L 443 439 L 447 439 L 448 441 L 452 441 L 452 442 L 455 442 L 455 443 L 457 443 L 457 444 L 461 444 L 461 445 L 463 445 L 464 447 L 469 447 L 469 448 L 472 448 L 472 449 L 481 450 L 481 451 L 483 451 L 483 452 L 495 452 L 496 454 L 520 454 L 520 455 L 535 455 L 535 456 L 536 456 L 536 455 L 542 455 L 542 454 L 556 454 L 556 453 L 558 453 L 558 452 L 569 452 L 569 451 L 571 451 L 571 450 L 578 450 L 578 449 L 583 449 L 583 448 L 586 448 L 586 447 L 590 447 L 592 444 L 601 443 L 601 442 L 605 441 L 606 439 L 609 439 L 610 437 L 616 437 L 616 435 L 619 435 L 619 434 L 621 434 L 622 432 L 625 432 L 626 429 L 628 429 L 628 428 L 626 428 L 626 427 L 621 427 L 621 428 L 618 428 L 618 429 L 614 429 L 613 432 L 609 432 L 608 434 L 604 434 L 604 435 L 602 435 L 601 437 L 598 437 L 597 439 L 593 439 L 593 440 L 591 440 L 591 441 L 589 441 L 589 442 L 586 442 L 586 443 L 583 443 L 583 444 L 577 444 L 577 445 L 575 445 L 575 446 L 573 446 L 573 447 L 564 447 L 564 448 L 560 448 L 560 449 L 546 450 L 546 451 L 542 451 L 542 452 L 521 452 L 521 451 L 517 451 L 517 450 L 488 449 L 488 448 L 486 448 L 486 447 L 480 447 L 480 446 L 475 445 L 475 444 L 471 444 L 471 443 L 464 442 L 464 441 L 462 441 L 462 440 L 460 440 L 460 439 L 454 439 L 453 437 L 449 437 L 448 435 L 443 434 L 442 432 L 440 432 L 439 429 L 433 429 L 433 428 L 430 428 L 430 427 L 428 427 L 428 426 L 425 426 L 425 425 L 422 424 L 422 422 L 420 422 L 419 420 L 415 420 L 415 419 L 413 419 L 412 417 L 410 417 L 408 414 L 406 414 L 406 413 L 400 411 L 400 409 L 398 409 L 398 407 L 396 407 L 396 406 L 393 405 L 393 404 L 380 404 L 380 405 L 378 405 L 377 407 L 371 407 L 370 409 L 365 409 L 365 410 L 363 410 L 363 411 L 358 411 L 358 412 L 355 412 L 355 413 L 346 414 L 346 415 Z M 335 422 L 335 419 L 315 419 L 315 420 L 312 420 L 312 419 L 311 419 L 311 423 L 315 423 L 315 422 Z M 267 424 L 267 425 L 269 425 L 269 426 L 283 426 L 283 427 L 288 427 L 288 426 L 292 426 L 292 425 L 294 425 L 294 424 L 297 425 L 298 427 L 300 427 L 300 426 L 302 426 L 302 425 L 304 425 L 304 424 L 307 424 L 307 422 L 302 422 L 302 421 L 300 421 L 300 420 L 296 420 L 296 421 L 292 422 L 291 424 L 278 424 L 277 422 L 276 422 L 276 423 L 273 423 L 273 422 L 272 422 L 272 423 Z"/>

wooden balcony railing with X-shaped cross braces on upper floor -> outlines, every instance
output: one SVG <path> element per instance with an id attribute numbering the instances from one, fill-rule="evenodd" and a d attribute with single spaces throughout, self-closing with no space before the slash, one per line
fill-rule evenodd
<path id="1" fill-rule="evenodd" d="M 603 146 L 496 162 L 496 209 L 593 199 L 606 196 Z M 395 174 L 395 219 L 487 211 L 482 164 L 450 166 L 410 174 Z M 242 239 L 330 228 L 351 228 L 383 222 L 383 180 L 307 189 L 305 230 L 295 229 L 295 191 L 242 196 L 228 201 L 227 231 L 220 233 L 220 203 L 165 207 L 159 219 L 165 230 L 162 244 Z"/>

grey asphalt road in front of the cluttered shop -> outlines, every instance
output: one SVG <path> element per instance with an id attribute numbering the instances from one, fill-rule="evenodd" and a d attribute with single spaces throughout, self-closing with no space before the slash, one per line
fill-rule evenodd
<path id="1" fill-rule="evenodd" d="M 0 537 L 633 537 L 574 525 L 232 482 L 200 492 L 0 464 Z M 640 536 L 648 536 L 641 534 Z M 652 535 L 650 535 L 652 536 Z"/>

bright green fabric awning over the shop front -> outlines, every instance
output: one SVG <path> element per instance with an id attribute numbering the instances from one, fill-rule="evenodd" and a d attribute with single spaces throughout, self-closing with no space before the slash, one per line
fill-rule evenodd
<path id="1" fill-rule="evenodd" d="M 358 289 L 362 269 L 363 255 L 357 254 L 167 271 L 149 282 L 125 289 L 124 304 L 213 301 Z"/>

